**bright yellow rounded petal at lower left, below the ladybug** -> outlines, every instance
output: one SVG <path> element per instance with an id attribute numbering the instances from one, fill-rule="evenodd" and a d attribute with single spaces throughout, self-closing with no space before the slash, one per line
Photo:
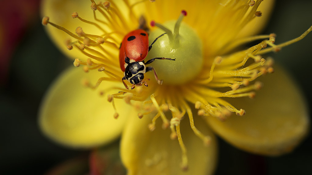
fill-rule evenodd
<path id="1" fill-rule="evenodd" d="M 107 94 L 100 96 L 99 91 L 119 84 L 102 82 L 103 86 L 92 90 L 81 83 L 82 78 L 87 78 L 95 84 L 99 77 L 96 73 L 99 74 L 71 68 L 48 91 L 39 113 L 39 124 L 52 140 L 82 148 L 105 144 L 120 135 L 127 118 L 137 115 L 134 112 L 131 115 L 132 107 L 123 100 L 115 100 L 120 116 L 114 119 L 115 111 L 107 101 Z"/>

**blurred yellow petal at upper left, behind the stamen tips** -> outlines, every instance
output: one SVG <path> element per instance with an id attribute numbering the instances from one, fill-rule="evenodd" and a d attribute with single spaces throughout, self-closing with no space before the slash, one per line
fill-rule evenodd
<path id="1" fill-rule="evenodd" d="M 41 14 L 42 16 L 47 16 L 50 18 L 50 21 L 66 28 L 67 30 L 75 33 L 76 27 L 82 27 L 85 33 L 89 34 L 98 34 L 100 30 L 93 25 L 86 24 L 81 22 L 79 19 L 73 19 L 71 13 L 77 12 L 80 17 L 91 20 L 93 19 L 93 11 L 90 8 L 91 1 L 86 0 L 43 0 L 41 5 Z M 76 39 L 71 38 L 64 31 L 56 29 L 51 25 L 44 27 L 55 45 L 67 56 L 70 58 L 79 58 L 84 60 L 86 56 L 78 51 L 68 50 L 66 48 L 66 40 L 71 39 L 75 41 Z"/>

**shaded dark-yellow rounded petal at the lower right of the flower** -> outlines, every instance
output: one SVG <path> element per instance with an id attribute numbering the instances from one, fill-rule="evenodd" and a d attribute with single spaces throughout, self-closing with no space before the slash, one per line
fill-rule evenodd
<path id="1" fill-rule="evenodd" d="M 207 121 L 218 135 L 240 149 L 265 155 L 290 152 L 309 128 L 305 100 L 281 68 L 275 66 L 275 73 L 262 78 L 264 87 L 255 99 L 230 101 L 245 109 L 245 116 L 231 116 L 225 122 L 209 117 Z"/>

